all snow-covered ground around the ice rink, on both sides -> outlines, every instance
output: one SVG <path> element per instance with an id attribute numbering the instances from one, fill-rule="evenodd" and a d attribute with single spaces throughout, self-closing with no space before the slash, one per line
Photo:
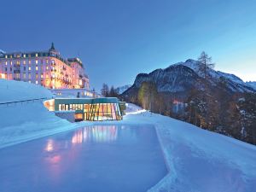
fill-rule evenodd
<path id="1" fill-rule="evenodd" d="M 36 84 L 9 82 L 0 80 L 0 102 L 52 96 Z M 0 148 L 93 124 L 69 123 L 47 111 L 39 101 L 2 106 L 0 118 Z M 154 125 L 169 173 L 149 189 L 150 192 L 252 192 L 256 189 L 256 147 L 251 144 L 160 114 L 148 113 L 135 105 L 128 105 L 122 121 L 96 124 Z"/>

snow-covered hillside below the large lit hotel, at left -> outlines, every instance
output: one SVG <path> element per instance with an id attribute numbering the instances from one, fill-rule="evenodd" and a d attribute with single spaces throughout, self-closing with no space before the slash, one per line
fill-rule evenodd
<path id="1" fill-rule="evenodd" d="M 52 97 L 44 87 L 26 82 L 0 79 L 0 89 L 1 103 Z M 42 101 L 0 105 L 0 148 L 73 127 L 44 108 Z"/>

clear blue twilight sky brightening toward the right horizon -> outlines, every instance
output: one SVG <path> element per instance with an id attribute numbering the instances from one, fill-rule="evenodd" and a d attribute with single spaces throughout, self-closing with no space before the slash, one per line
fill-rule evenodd
<path id="1" fill-rule="evenodd" d="M 0 49 L 79 56 L 90 87 L 132 84 L 202 50 L 216 69 L 256 81 L 255 0 L 0 0 Z"/>

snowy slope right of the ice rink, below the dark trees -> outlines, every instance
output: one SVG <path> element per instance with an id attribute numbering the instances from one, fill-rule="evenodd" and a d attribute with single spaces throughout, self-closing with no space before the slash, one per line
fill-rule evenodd
<path id="1" fill-rule="evenodd" d="M 120 123 L 156 128 L 169 173 L 150 192 L 256 189 L 256 146 L 137 108 Z"/>

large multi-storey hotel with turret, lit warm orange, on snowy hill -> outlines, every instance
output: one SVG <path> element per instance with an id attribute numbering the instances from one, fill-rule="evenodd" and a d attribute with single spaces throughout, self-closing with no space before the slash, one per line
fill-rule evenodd
<path id="1" fill-rule="evenodd" d="M 48 51 L 0 53 L 0 79 L 41 84 L 49 89 L 89 90 L 82 61 L 64 60 L 54 44 Z"/>

